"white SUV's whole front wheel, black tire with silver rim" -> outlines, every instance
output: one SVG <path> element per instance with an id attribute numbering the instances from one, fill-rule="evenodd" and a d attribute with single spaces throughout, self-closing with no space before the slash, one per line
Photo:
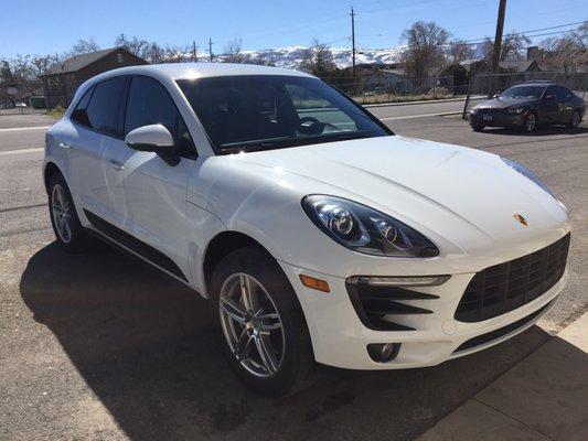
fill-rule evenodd
<path id="1" fill-rule="evenodd" d="M 249 287 L 250 309 L 243 298 L 244 284 Z M 308 385 L 314 372 L 310 335 L 298 298 L 276 260 L 255 246 L 228 254 L 214 269 L 210 294 L 222 352 L 249 388 L 284 396 Z M 261 311 L 254 314 L 257 323 L 250 314 L 254 309 Z M 278 322 L 281 327 L 267 331 Z M 263 354 L 269 355 L 264 359 Z"/>

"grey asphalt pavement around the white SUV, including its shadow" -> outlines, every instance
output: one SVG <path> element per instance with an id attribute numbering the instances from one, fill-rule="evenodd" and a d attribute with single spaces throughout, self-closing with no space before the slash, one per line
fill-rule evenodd
<path id="1" fill-rule="evenodd" d="M 0 118 L 0 439 L 409 440 L 431 427 L 587 308 L 588 126 L 474 133 L 459 117 L 415 117 L 461 105 L 371 111 L 399 135 L 503 154 L 546 181 L 574 223 L 556 308 L 482 353 L 404 372 L 323 368 L 314 386 L 279 400 L 233 377 L 205 302 L 186 288 L 106 248 L 67 256 L 53 244 L 43 130 L 2 131 L 51 120 Z"/>

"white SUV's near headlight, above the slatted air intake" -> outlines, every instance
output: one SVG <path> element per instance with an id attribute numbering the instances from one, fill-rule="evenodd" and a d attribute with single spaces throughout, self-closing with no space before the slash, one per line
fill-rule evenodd
<path id="1" fill-rule="evenodd" d="M 355 251 L 393 257 L 439 255 L 439 249 L 420 233 L 356 202 L 310 195 L 302 200 L 302 208 L 328 236 Z"/>

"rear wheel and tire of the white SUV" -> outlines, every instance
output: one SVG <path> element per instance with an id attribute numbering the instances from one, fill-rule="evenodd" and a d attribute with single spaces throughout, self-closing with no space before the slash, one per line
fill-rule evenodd
<path id="1" fill-rule="evenodd" d="M 70 189 L 61 173 L 49 181 L 49 215 L 57 244 L 67 252 L 82 252 L 92 239 L 82 226 Z"/>

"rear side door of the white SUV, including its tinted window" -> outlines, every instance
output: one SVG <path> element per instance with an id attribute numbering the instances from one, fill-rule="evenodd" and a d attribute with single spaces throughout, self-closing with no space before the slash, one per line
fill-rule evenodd
<path id="1" fill-rule="evenodd" d="M 82 208 L 111 219 L 110 192 L 104 157 L 108 146 L 122 136 L 124 78 L 107 79 L 89 89 L 72 114 L 75 137 L 71 151 L 71 179 Z"/>

